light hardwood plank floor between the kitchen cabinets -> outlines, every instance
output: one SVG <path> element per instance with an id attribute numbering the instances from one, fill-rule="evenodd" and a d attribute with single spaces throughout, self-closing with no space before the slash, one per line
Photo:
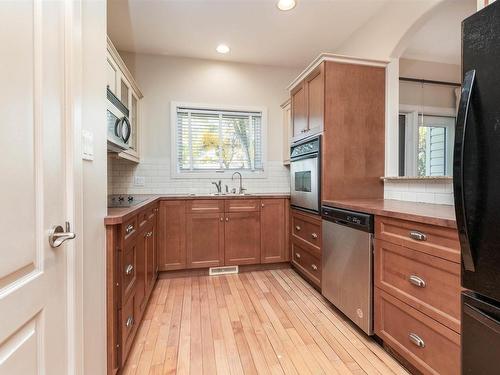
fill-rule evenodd
<path id="1" fill-rule="evenodd" d="M 295 271 L 160 279 L 124 374 L 407 374 Z"/>

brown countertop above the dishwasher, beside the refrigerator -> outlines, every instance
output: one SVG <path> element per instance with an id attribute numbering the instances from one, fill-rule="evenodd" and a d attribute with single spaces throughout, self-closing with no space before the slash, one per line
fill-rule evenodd
<path id="1" fill-rule="evenodd" d="M 456 228 L 455 208 L 444 204 L 417 203 L 393 199 L 346 199 L 323 201 L 325 206 L 366 212 L 374 215 Z"/>

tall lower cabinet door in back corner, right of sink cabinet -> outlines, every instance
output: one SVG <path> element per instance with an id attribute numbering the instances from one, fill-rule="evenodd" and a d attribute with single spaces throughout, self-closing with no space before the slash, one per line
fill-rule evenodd
<path id="1" fill-rule="evenodd" d="M 285 199 L 263 199 L 260 209 L 261 263 L 286 262 Z"/>

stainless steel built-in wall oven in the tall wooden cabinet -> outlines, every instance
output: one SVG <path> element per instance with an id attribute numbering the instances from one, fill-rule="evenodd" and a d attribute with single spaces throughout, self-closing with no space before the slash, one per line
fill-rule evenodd
<path id="1" fill-rule="evenodd" d="M 291 205 L 317 212 L 321 199 L 321 135 L 293 143 L 290 150 Z"/>

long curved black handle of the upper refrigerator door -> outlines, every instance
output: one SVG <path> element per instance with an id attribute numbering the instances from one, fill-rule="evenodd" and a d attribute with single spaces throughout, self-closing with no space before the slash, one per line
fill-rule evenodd
<path id="1" fill-rule="evenodd" d="M 460 235 L 460 246 L 462 248 L 462 261 L 464 268 L 467 271 L 474 272 L 475 264 L 472 249 L 469 241 L 469 232 L 467 228 L 467 210 L 465 207 L 465 192 L 464 192 L 464 148 L 465 137 L 467 134 L 467 117 L 469 114 L 470 99 L 474 80 L 476 77 L 475 70 L 469 70 L 465 73 L 464 82 L 462 85 L 462 93 L 460 95 L 460 104 L 458 107 L 456 133 L 455 133 L 455 150 L 453 163 L 453 189 L 455 191 L 455 213 L 457 220 L 458 233 Z"/>

